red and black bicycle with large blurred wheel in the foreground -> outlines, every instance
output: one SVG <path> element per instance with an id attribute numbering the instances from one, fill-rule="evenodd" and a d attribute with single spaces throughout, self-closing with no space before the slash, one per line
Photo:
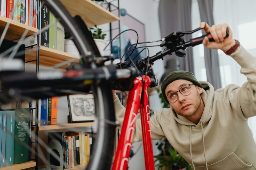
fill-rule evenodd
<path id="1" fill-rule="evenodd" d="M 81 55 L 81 63 L 69 67 L 67 71 L 42 71 L 39 73 L 26 73 L 23 72 L 22 63 L 20 61 L 15 59 L 2 59 L 1 62 L 4 63 L 5 66 L 11 66 L 11 69 L 4 66 L 0 68 L 0 101 L 2 103 L 8 103 L 13 100 L 22 101 L 30 100 L 31 98 L 39 99 L 54 96 L 66 96 L 78 93 L 87 94 L 91 93 L 90 91 L 92 89 L 96 108 L 97 120 L 95 121 L 95 126 L 97 126 L 97 133 L 95 133 L 93 136 L 92 154 L 90 156 L 90 162 L 87 166 L 87 169 L 110 169 L 111 159 L 113 156 L 114 132 L 116 128 L 113 98 L 111 92 L 112 88 L 123 91 L 131 90 L 133 88 L 132 82 L 139 75 L 139 71 L 145 71 L 146 76 L 142 76 L 142 78 L 136 78 L 135 80 L 140 82 L 140 85 L 137 86 L 137 90 L 143 93 L 142 98 L 145 101 L 144 107 L 141 107 L 143 108 L 141 111 L 142 113 L 146 113 L 144 114 L 144 124 L 147 132 L 145 137 L 149 139 L 148 136 L 150 136 L 150 127 L 149 124 L 146 124 L 146 120 L 149 120 L 147 100 L 148 96 L 146 87 L 157 85 L 157 79 L 154 75 L 152 67 L 149 65 L 152 64 L 155 60 L 162 59 L 165 55 L 172 52 L 175 52 L 178 56 L 184 57 L 185 53 L 178 51 L 179 49 L 185 49 L 188 46 L 198 45 L 202 43 L 202 40 L 205 36 L 209 36 L 210 38 L 210 35 L 207 34 L 199 38 L 192 39 L 190 42 L 185 42 L 181 38 L 182 36 L 185 34 L 192 34 L 195 31 L 200 30 L 200 28 L 190 32 L 174 32 L 165 37 L 164 43 L 161 44 L 161 46 L 166 46 L 167 49 L 157 53 L 152 57 L 148 56 L 145 59 L 139 60 L 136 64 L 133 63 L 133 59 L 130 59 L 130 61 L 120 63 L 117 66 L 104 66 L 104 62 L 111 60 L 112 58 L 111 56 L 100 55 L 100 52 L 97 49 L 97 46 L 93 41 L 91 34 L 83 20 L 79 16 L 72 18 L 59 1 L 43 0 L 42 2 L 48 6 L 55 17 L 60 20 L 61 24 L 65 27 L 65 30 L 71 35 Z M 41 32 L 42 31 L 43 29 Z M 1 40 L 3 38 L 4 34 L 1 36 Z M 21 38 L 20 42 L 23 40 L 24 37 Z M 16 49 L 18 47 L 19 44 L 12 49 Z M 134 49 L 131 49 L 130 51 Z M 39 47 L 37 47 L 37 52 L 38 51 Z M 130 51 L 127 51 L 128 56 L 130 55 Z M 14 57 L 16 52 L 17 50 L 14 50 L 14 53 L 10 55 L 11 57 L 9 55 L 8 57 Z M 7 54 L 0 54 L 0 58 Z M 131 63 L 134 65 L 134 67 L 130 67 Z M 15 67 L 13 67 L 14 64 L 16 64 Z M 122 69 L 117 69 L 119 66 Z M 151 77 L 147 76 L 147 73 L 149 73 Z M 135 90 L 133 90 L 131 93 L 134 92 Z M 138 100 L 140 99 L 139 93 L 137 93 L 136 98 Z M 139 105 L 136 107 L 138 108 Z M 134 120 L 136 115 L 130 116 L 132 118 L 131 120 Z M 38 131 L 38 120 L 36 120 L 36 125 L 36 131 Z M 132 124 L 132 126 L 134 126 L 134 124 Z M 132 126 L 129 126 L 129 128 Z M 123 148 L 120 146 L 120 144 L 123 143 L 123 139 L 125 138 L 123 137 L 123 134 L 124 133 L 121 132 L 115 162 L 120 162 L 122 159 L 127 161 L 128 155 L 130 153 L 130 147 L 127 147 L 128 150 L 126 151 L 125 156 L 122 159 L 119 156 L 122 153 L 120 148 Z M 36 140 L 38 140 L 38 136 L 36 135 L 35 137 Z M 131 143 L 132 136 L 129 137 Z M 144 151 L 148 150 L 145 154 L 145 158 L 149 157 L 147 160 L 148 168 L 154 169 L 154 160 L 152 160 L 152 143 L 150 140 L 144 147 L 148 148 L 144 148 Z M 37 146 L 35 150 L 36 153 L 38 153 Z M 38 161 L 38 156 L 39 155 L 37 154 L 36 161 Z M 113 169 L 120 169 L 121 164 L 119 163 L 117 165 L 115 162 Z M 123 163 L 121 169 L 126 169 L 126 167 L 127 165 Z"/>

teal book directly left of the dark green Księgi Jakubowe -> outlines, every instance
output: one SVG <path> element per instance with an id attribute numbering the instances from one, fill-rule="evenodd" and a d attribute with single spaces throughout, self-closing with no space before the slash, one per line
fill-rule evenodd
<path id="1" fill-rule="evenodd" d="M 14 120 L 15 111 L 7 111 L 6 119 L 6 144 L 5 144 L 5 166 L 13 165 L 14 157 Z"/>

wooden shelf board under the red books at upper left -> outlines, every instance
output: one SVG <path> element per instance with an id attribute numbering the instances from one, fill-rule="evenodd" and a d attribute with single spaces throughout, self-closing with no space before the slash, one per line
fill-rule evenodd
<path id="1" fill-rule="evenodd" d="M 4 37 L 6 40 L 16 40 L 20 39 L 22 34 L 26 29 L 28 29 L 27 36 L 31 36 L 32 34 L 38 33 L 38 29 L 34 27 L 27 26 L 25 24 L 21 24 L 17 21 L 10 20 L 9 18 L 5 18 L 0 16 L 0 35 L 2 35 L 5 26 L 10 22 L 7 33 Z"/>

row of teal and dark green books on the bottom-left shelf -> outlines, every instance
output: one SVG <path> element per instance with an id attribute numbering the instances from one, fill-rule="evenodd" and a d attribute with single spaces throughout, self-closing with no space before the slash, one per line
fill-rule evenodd
<path id="1" fill-rule="evenodd" d="M 0 111 L 1 167 L 31 160 L 32 109 Z"/>

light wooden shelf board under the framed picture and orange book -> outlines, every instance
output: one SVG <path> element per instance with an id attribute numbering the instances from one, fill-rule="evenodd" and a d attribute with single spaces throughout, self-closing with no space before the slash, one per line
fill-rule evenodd
<path id="1" fill-rule="evenodd" d="M 86 126 L 93 126 L 93 122 L 86 122 L 86 123 L 72 123 L 72 124 L 58 124 L 58 125 L 47 125 L 47 126 L 39 126 L 39 130 L 54 130 L 54 129 L 65 129 L 65 128 L 79 128 L 79 127 L 86 127 Z M 35 130 L 35 127 L 33 127 Z M 1 170 L 1 169 L 0 169 Z"/>

